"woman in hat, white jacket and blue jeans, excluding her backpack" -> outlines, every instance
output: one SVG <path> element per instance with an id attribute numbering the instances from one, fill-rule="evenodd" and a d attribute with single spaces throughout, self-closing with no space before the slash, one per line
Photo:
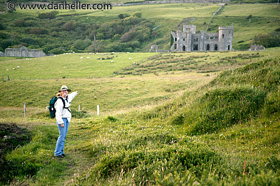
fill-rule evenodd
<path id="1" fill-rule="evenodd" d="M 78 94 L 77 91 L 68 94 L 71 89 L 66 85 L 62 85 L 59 93 L 57 94 L 58 100 L 54 104 L 55 119 L 57 119 L 57 124 L 59 128 L 59 138 L 57 145 L 55 146 L 54 156 L 58 158 L 64 158 L 67 154 L 64 153 L 64 144 L 67 136 L 67 131 L 69 127 L 69 122 L 71 120 L 71 110 L 69 109 L 71 101 Z"/>

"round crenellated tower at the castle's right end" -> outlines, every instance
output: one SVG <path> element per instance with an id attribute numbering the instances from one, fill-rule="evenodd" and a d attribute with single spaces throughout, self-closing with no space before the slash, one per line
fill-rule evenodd
<path id="1" fill-rule="evenodd" d="M 219 26 L 219 49 L 220 51 L 232 50 L 233 38 L 233 23 L 232 26 Z"/>

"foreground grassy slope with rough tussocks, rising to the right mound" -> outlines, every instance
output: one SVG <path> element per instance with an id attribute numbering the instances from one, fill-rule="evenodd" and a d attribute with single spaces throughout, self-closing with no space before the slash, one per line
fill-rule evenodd
<path id="1" fill-rule="evenodd" d="M 23 118 L 4 107 L 1 122 L 32 130 L 30 143 L 8 153 L 7 168 L 31 185 L 278 185 L 279 66 L 279 57 L 262 59 L 156 104 L 74 115 L 61 161 L 51 158 L 57 127 L 45 123 L 47 111 Z M 20 92 L 14 82 L 10 90 Z"/>

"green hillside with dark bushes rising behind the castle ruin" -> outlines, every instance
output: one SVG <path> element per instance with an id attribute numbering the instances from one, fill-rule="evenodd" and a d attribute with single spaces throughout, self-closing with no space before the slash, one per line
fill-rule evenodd
<path id="1" fill-rule="evenodd" d="M 219 7 L 217 4 L 154 4 L 116 6 L 107 11 L 17 9 L 0 15 L 1 47 L 24 45 L 45 52 L 55 49 L 51 51 L 54 53 L 59 48 L 65 52 L 148 51 L 152 44 L 169 49 L 171 30 L 182 24 L 196 24 L 197 32 L 206 30 Z M 218 32 L 218 26 L 234 23 L 233 48 L 247 49 L 258 33 L 274 33 L 279 28 L 279 16 L 277 5 L 229 4 L 212 18 L 208 31 Z M 156 26 L 159 27 L 153 30 Z M 274 35 L 275 40 L 279 33 Z"/>

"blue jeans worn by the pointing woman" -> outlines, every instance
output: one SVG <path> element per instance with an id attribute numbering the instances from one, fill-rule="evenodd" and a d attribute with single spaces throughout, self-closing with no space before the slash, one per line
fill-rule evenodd
<path id="1" fill-rule="evenodd" d="M 64 121 L 64 127 L 61 127 L 60 124 L 57 122 L 58 127 L 59 127 L 59 138 L 57 141 L 57 146 L 55 146 L 54 150 L 54 156 L 59 156 L 61 154 L 64 154 L 63 149 L 64 149 L 64 144 L 67 136 L 67 131 L 69 127 L 69 121 L 67 118 L 62 118 Z"/>

